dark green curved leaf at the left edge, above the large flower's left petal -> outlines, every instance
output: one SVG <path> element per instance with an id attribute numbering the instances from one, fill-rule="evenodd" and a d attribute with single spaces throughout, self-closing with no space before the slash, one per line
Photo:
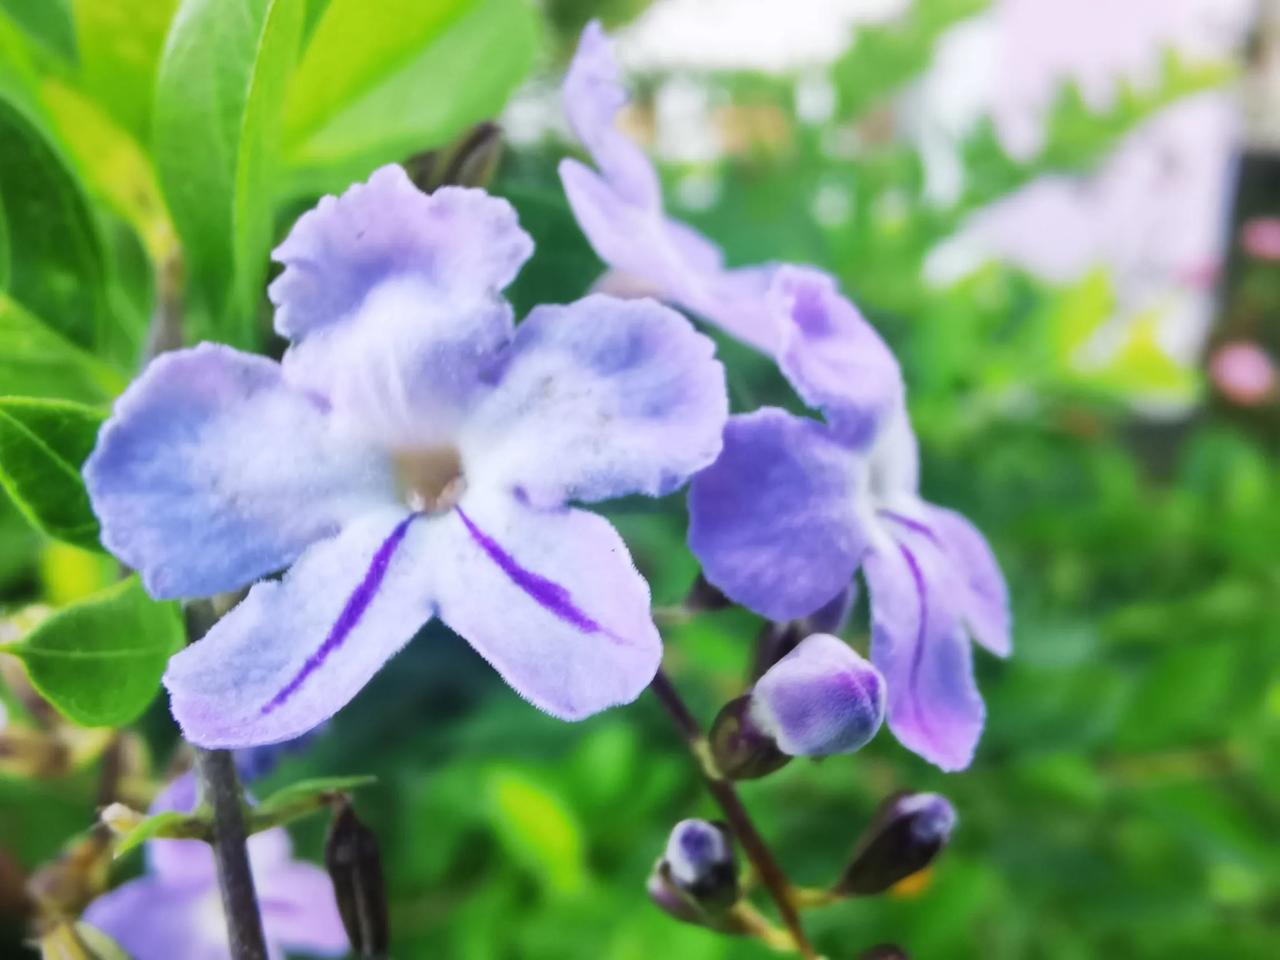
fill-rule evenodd
<path id="1" fill-rule="evenodd" d="M 8 293 L 63 337 L 92 349 L 109 333 L 97 223 L 60 152 L 3 90 L 0 143 Z"/>

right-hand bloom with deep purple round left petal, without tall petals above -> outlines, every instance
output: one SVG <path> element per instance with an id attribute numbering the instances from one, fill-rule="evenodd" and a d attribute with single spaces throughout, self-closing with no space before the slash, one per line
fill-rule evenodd
<path id="1" fill-rule="evenodd" d="M 731 417 L 723 453 L 690 488 L 690 547 L 713 585 L 778 621 L 818 609 L 863 567 L 890 728 L 964 768 L 983 724 L 970 637 L 1010 652 L 1004 577 L 964 517 L 920 499 L 901 378 L 874 332 L 822 274 L 780 271 L 773 294 L 814 342 L 846 330 L 810 353 L 823 362 L 782 364 L 827 422 L 776 408 Z"/>

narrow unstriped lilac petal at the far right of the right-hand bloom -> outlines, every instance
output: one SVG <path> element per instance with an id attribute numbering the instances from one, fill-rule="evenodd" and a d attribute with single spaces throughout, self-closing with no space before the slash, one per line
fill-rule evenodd
<path id="1" fill-rule="evenodd" d="M 925 504 L 929 527 L 957 570 L 964 589 L 964 620 L 974 640 L 997 657 L 1014 652 L 1009 586 L 991 545 L 973 524 L 951 509 Z"/>

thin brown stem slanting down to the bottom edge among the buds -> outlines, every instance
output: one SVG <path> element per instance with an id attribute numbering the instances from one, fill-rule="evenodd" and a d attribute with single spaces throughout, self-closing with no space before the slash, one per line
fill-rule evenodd
<path id="1" fill-rule="evenodd" d="M 658 671 L 649 689 L 671 716 L 685 742 L 689 744 L 694 759 L 698 760 L 698 767 L 707 783 L 707 788 L 716 797 L 716 803 L 719 804 L 721 810 L 724 813 L 724 818 L 728 820 L 733 835 L 742 845 L 748 860 L 751 861 L 751 867 L 759 876 L 760 883 L 764 884 L 764 888 L 777 905 L 778 915 L 791 933 L 796 950 L 800 951 L 800 955 L 805 960 L 818 960 L 818 954 L 805 936 L 804 927 L 800 923 L 800 913 L 796 910 L 791 896 L 791 883 L 787 881 L 782 867 L 774 859 L 773 851 L 764 842 L 764 837 L 760 836 L 760 832 L 751 822 L 751 817 L 742 805 L 742 800 L 739 797 L 732 782 L 719 776 L 714 764 L 708 762 L 707 740 L 703 736 L 703 730 L 698 719 L 690 712 L 689 707 L 685 705 L 671 678 L 662 669 Z"/>

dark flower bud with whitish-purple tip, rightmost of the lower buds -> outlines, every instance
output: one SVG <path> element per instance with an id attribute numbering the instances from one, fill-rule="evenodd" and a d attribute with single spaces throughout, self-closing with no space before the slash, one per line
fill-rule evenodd
<path id="1" fill-rule="evenodd" d="M 928 867 L 951 838 L 955 824 L 955 808 L 945 796 L 891 796 L 863 832 L 836 891 L 863 896 L 884 892 Z"/>

